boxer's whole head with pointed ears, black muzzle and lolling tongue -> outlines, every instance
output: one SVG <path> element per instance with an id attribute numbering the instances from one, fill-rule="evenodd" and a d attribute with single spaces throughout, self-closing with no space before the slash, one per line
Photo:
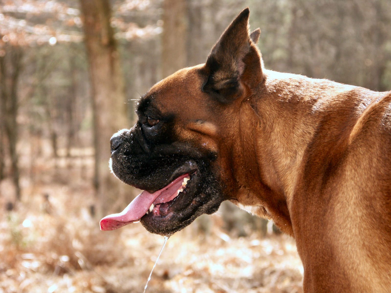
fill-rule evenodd
<path id="1" fill-rule="evenodd" d="M 101 229 L 140 220 L 150 232 L 170 235 L 235 198 L 239 119 L 251 117 L 242 115 L 252 111 L 245 102 L 263 80 L 260 30 L 249 34 L 248 17 L 244 9 L 233 20 L 205 64 L 155 84 L 138 103 L 135 126 L 113 135 L 112 172 L 145 191 L 103 218 Z"/>

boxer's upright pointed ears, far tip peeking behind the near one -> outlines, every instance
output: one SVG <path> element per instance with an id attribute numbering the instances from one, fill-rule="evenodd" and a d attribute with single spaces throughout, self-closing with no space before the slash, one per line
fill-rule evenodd
<path id="1" fill-rule="evenodd" d="M 255 43 L 260 29 L 249 35 L 249 9 L 244 9 L 213 46 L 205 68 L 208 79 L 203 86 L 224 104 L 242 96 L 244 86 L 253 89 L 263 79 L 262 58 Z"/>

